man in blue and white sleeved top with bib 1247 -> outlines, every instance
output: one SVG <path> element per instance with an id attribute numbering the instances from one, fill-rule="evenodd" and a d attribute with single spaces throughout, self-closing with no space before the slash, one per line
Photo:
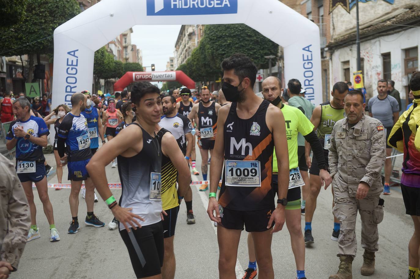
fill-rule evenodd
<path id="1" fill-rule="evenodd" d="M 68 228 L 70 234 L 74 234 L 80 229 L 77 214 L 79 211 L 79 192 L 83 180 L 86 188 L 85 201 L 87 206 L 87 216 L 84 224 L 93 227 L 105 226 L 105 223 L 93 214 L 95 186 L 86 170 L 86 165 L 92 158 L 87 121 L 81 114 L 87 106 L 86 102 L 87 96 L 85 94 L 74 93 L 71 96 L 71 112 L 64 117 L 58 129 L 58 154 L 62 165 L 68 163 L 68 180 L 71 182 L 69 203 L 72 221 Z M 65 143 L 68 155 L 64 153 Z"/>

